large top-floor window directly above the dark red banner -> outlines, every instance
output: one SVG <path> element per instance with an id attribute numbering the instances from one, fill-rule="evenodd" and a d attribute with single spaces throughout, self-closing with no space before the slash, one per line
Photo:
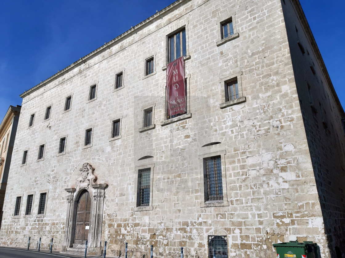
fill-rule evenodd
<path id="1" fill-rule="evenodd" d="M 186 29 L 169 36 L 169 62 L 186 56 Z"/>

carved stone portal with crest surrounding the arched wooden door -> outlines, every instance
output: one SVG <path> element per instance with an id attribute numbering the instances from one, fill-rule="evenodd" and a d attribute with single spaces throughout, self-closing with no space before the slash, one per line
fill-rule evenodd
<path id="1" fill-rule="evenodd" d="M 65 189 L 68 192 L 66 231 L 63 243 L 65 250 L 74 244 L 78 198 L 84 189 L 89 192 L 92 199 L 88 247 L 96 248 L 101 246 L 104 190 L 107 184 L 96 184 L 97 176 L 93 174 L 94 169 L 89 163 L 84 163 L 79 171 L 80 175 L 75 184 L 71 188 Z"/>

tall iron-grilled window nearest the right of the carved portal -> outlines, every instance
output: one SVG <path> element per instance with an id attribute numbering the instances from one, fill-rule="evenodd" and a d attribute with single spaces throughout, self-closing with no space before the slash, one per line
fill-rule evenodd
<path id="1" fill-rule="evenodd" d="M 150 205 L 150 176 L 151 169 L 141 169 L 138 171 L 138 197 L 137 206 Z"/>

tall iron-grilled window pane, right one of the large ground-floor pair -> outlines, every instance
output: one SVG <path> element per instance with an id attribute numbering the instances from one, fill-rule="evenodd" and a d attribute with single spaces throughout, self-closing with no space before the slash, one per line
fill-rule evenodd
<path id="1" fill-rule="evenodd" d="M 223 181 L 221 176 L 220 156 L 204 159 L 204 175 L 206 176 L 206 201 L 223 200 Z"/>

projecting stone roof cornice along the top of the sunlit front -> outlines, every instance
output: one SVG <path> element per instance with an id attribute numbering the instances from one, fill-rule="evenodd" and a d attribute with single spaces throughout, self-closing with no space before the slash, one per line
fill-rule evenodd
<path id="1" fill-rule="evenodd" d="M 87 54 L 86 56 L 81 57 L 78 61 L 76 61 L 73 64 L 71 64 L 71 65 L 67 66 L 66 68 L 62 69 L 61 71 L 59 71 L 55 75 L 49 77 L 48 79 L 44 80 L 40 84 L 37 84 L 36 86 L 32 87 L 31 89 L 26 90 L 24 93 L 20 94 L 19 97 L 24 98 L 24 97 L 28 96 L 29 94 L 35 92 L 39 88 L 45 86 L 46 84 L 48 84 L 51 81 L 57 79 L 58 77 L 62 76 L 63 74 L 66 74 L 71 69 L 73 69 L 73 68 L 75 68 L 75 67 L 77 67 L 77 66 L 79 66 L 79 65 L 81 65 L 83 63 L 85 63 L 87 60 L 90 60 L 92 57 L 94 57 L 94 56 L 98 55 L 99 53 L 105 51 L 107 48 L 110 48 L 112 45 L 115 45 L 119 41 L 124 40 L 126 37 L 132 35 L 133 32 L 136 32 L 136 31 L 140 30 L 141 28 L 147 26 L 148 24 L 153 22 L 157 17 L 160 17 L 161 15 L 165 15 L 165 14 L 169 13 L 172 9 L 174 9 L 179 4 L 185 3 L 185 2 L 189 2 L 189 1 L 191 1 L 191 0 L 177 0 L 176 2 L 174 2 L 174 3 L 170 4 L 169 6 L 167 6 L 166 8 L 160 10 L 159 12 L 156 12 L 154 15 L 152 15 L 149 18 L 147 18 L 146 20 L 144 20 L 144 21 L 140 22 L 139 24 L 133 26 L 128 31 L 126 31 L 126 32 L 122 33 L 121 35 L 117 36 L 115 39 L 105 43 L 104 45 L 102 45 L 101 47 L 96 49 L 95 51 L 92 51 L 90 54 Z"/>

